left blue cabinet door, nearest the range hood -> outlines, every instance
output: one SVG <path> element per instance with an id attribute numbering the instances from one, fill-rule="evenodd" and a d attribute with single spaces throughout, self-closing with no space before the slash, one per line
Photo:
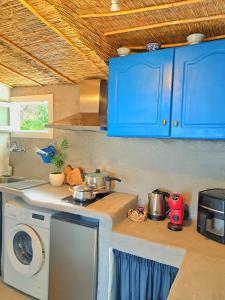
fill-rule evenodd
<path id="1" fill-rule="evenodd" d="M 173 56 L 166 49 L 111 59 L 109 136 L 169 136 Z"/>

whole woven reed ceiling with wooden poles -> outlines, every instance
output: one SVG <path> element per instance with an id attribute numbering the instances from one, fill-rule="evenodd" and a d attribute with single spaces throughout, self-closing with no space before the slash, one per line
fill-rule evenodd
<path id="1" fill-rule="evenodd" d="M 225 37 L 225 0 L 0 0 L 0 81 L 10 86 L 106 78 L 121 45 L 166 47 Z"/>

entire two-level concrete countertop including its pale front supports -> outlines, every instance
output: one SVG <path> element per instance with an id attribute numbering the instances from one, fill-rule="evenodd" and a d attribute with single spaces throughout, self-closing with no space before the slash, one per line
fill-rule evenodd
<path id="1" fill-rule="evenodd" d="M 104 263 L 99 270 L 98 299 L 106 299 L 108 293 L 105 274 L 109 272 L 109 266 L 106 266 L 109 247 L 118 246 L 121 249 L 121 244 L 126 244 L 130 253 L 150 258 L 145 253 L 155 252 L 158 258 L 167 256 L 171 262 L 174 261 L 172 265 L 177 264 L 180 269 L 169 300 L 225 299 L 225 246 L 197 233 L 195 222 L 180 232 L 168 230 L 168 220 L 134 223 L 126 216 L 129 208 L 136 207 L 137 196 L 126 193 L 113 193 L 88 207 L 75 207 L 62 200 L 70 195 L 68 186 L 55 188 L 45 184 L 18 191 L 2 184 L 0 191 L 4 193 L 4 198 L 7 198 L 7 194 L 23 197 L 28 204 L 36 207 L 99 218 L 99 251 Z M 161 259 L 160 262 L 166 261 Z"/>

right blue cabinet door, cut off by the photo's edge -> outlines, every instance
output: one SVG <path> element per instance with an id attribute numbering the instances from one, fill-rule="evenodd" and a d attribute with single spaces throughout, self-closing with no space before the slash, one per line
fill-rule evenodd
<path id="1" fill-rule="evenodd" d="M 171 136 L 225 139 L 225 40 L 175 50 Z"/>

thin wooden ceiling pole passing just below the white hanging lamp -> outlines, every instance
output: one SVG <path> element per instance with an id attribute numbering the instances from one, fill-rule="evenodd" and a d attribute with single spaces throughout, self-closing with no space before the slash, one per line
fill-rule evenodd
<path id="1" fill-rule="evenodd" d="M 145 12 L 156 11 L 156 10 L 163 10 L 163 9 L 168 9 L 168 8 L 175 8 L 175 7 L 184 6 L 184 5 L 191 5 L 191 4 L 195 4 L 195 3 L 203 2 L 203 1 L 205 1 L 205 0 L 185 0 L 185 1 L 173 2 L 173 3 L 167 3 L 167 4 L 160 4 L 160 5 L 154 5 L 154 6 L 145 6 L 145 7 L 129 9 L 129 10 L 105 12 L 105 13 L 83 14 L 83 15 L 79 15 L 79 16 L 82 19 L 119 17 L 119 16 L 145 13 Z"/>

